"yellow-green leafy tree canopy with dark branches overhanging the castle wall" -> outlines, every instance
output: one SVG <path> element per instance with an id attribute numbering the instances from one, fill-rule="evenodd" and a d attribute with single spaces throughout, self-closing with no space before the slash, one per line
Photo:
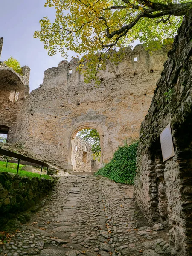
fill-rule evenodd
<path id="1" fill-rule="evenodd" d="M 67 58 L 69 50 L 85 55 L 92 70 L 91 79 L 98 67 L 105 65 L 106 52 L 110 56 L 118 47 L 127 47 L 137 39 L 148 44 L 173 37 L 192 2 L 47 0 L 46 6 L 55 7 L 55 21 L 48 17 L 41 19 L 41 30 L 35 31 L 35 38 L 44 43 L 49 55 L 59 51 Z"/>

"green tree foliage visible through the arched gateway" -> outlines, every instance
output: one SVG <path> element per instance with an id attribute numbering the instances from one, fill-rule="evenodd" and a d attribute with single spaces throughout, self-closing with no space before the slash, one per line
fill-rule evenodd
<path id="1" fill-rule="evenodd" d="M 77 136 L 83 140 L 89 142 L 92 146 L 93 158 L 100 160 L 101 147 L 100 147 L 100 136 L 96 129 L 83 129 L 77 133 Z"/>

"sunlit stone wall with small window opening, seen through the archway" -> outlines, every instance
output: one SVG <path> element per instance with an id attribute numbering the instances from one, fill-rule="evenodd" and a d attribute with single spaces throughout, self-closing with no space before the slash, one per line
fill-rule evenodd
<path id="1" fill-rule="evenodd" d="M 76 172 L 91 172 L 91 145 L 76 136 L 72 140 L 72 165 Z"/>

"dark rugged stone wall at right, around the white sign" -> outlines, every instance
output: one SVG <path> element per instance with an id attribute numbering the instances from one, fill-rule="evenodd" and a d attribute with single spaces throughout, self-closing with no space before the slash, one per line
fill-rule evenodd
<path id="1" fill-rule="evenodd" d="M 163 163 L 160 133 L 170 123 L 175 156 Z M 164 221 L 178 256 L 192 255 L 192 9 L 141 125 L 135 199 L 150 222 Z"/>

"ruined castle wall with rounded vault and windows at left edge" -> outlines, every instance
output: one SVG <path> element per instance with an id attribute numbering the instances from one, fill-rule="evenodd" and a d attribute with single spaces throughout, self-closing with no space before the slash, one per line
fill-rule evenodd
<path id="1" fill-rule="evenodd" d="M 0 51 L 3 38 L 0 38 Z M 30 68 L 22 67 L 22 75 L 0 62 L 0 130 L 7 128 L 8 141 L 15 142 L 17 118 L 23 107 L 23 99 L 29 95 Z"/>

